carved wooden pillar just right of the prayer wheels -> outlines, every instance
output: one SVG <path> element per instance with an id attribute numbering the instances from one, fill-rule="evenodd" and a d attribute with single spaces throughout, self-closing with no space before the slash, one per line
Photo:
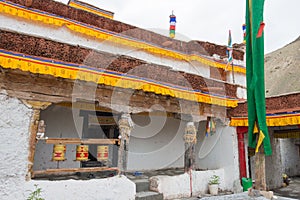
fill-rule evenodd
<path id="1" fill-rule="evenodd" d="M 130 114 L 123 114 L 118 122 L 119 125 L 119 156 L 118 156 L 118 168 L 119 174 L 124 174 L 127 170 L 127 159 L 128 159 L 128 145 L 130 139 L 130 133 L 133 128 L 133 122 L 131 120 Z"/>

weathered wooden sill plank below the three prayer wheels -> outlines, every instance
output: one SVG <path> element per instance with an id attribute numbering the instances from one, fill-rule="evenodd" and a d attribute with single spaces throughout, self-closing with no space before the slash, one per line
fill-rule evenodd
<path id="1" fill-rule="evenodd" d="M 99 172 L 99 171 L 119 171 L 117 167 L 86 167 L 86 168 L 60 168 L 60 169 L 46 169 L 40 171 L 33 171 L 33 175 L 41 174 L 59 174 L 59 173 L 75 173 L 75 172 Z"/>

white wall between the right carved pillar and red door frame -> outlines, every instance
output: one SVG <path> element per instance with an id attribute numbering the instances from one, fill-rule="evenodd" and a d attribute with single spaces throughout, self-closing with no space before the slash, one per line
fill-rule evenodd
<path id="1" fill-rule="evenodd" d="M 239 180 L 238 142 L 235 127 L 217 123 L 217 132 L 205 136 L 206 121 L 199 124 L 196 146 L 196 167 L 199 169 L 224 169 L 225 189 L 232 190 Z"/>

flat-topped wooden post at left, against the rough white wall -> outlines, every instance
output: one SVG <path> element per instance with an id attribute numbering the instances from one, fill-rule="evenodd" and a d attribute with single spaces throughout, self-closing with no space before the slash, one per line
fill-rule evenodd
<path id="1" fill-rule="evenodd" d="M 37 133 L 39 132 L 39 120 L 41 110 L 46 109 L 51 103 L 38 102 L 38 101 L 24 101 L 24 103 L 33 108 L 33 113 L 29 127 L 29 155 L 28 155 L 28 172 L 26 174 L 26 180 L 30 180 L 32 175 L 32 168 L 34 163 L 35 147 L 37 142 Z M 40 125 L 41 126 L 41 125 Z"/>

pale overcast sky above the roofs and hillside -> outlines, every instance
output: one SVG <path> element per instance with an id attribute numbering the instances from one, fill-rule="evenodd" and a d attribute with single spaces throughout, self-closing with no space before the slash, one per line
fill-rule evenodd
<path id="1" fill-rule="evenodd" d="M 67 0 L 58 0 L 67 2 Z M 169 15 L 176 15 L 176 37 L 226 45 L 243 40 L 245 0 L 80 0 L 115 13 L 114 19 L 164 35 Z M 265 53 L 300 36 L 300 0 L 265 0 Z"/>

